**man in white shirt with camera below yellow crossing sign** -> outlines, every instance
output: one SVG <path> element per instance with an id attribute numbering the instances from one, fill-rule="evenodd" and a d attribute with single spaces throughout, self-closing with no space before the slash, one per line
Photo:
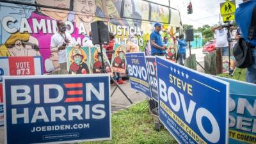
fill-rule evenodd
<path id="1" fill-rule="evenodd" d="M 228 56 L 228 31 L 223 26 L 213 28 L 216 35 L 216 49 L 220 49 L 222 56 Z"/>

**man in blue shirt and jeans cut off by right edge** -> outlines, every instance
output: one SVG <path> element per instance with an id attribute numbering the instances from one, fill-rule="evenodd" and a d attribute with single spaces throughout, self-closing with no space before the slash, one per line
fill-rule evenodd
<path id="1" fill-rule="evenodd" d="M 236 23 L 241 30 L 242 37 L 249 43 L 252 49 L 253 64 L 247 68 L 246 81 L 256 84 L 256 31 L 252 40 L 248 38 L 248 29 L 251 25 L 253 8 L 256 5 L 256 0 L 243 0 L 244 3 L 239 4 L 235 17 Z"/>

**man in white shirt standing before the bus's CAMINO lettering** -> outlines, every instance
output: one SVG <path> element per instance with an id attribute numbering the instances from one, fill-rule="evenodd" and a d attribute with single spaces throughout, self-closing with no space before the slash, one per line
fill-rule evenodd
<path id="1" fill-rule="evenodd" d="M 61 74 L 67 74 L 67 58 L 66 47 L 72 45 L 72 38 L 69 33 L 66 32 L 66 25 L 63 21 L 57 22 L 58 32 L 51 37 L 51 52 L 58 53 L 58 61 L 60 63 Z"/>

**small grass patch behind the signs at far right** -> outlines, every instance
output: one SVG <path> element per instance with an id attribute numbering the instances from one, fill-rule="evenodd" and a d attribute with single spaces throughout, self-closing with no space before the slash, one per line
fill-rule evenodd
<path id="1" fill-rule="evenodd" d="M 246 81 L 246 69 L 236 68 L 233 76 L 229 76 L 229 74 L 219 74 L 220 77 L 226 77 L 228 79 L 236 79 L 238 81 Z"/>

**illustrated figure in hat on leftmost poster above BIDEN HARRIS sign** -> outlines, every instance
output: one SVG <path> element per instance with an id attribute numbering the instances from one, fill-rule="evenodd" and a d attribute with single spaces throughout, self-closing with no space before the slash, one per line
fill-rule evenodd
<path id="1" fill-rule="evenodd" d="M 88 61 L 88 55 L 80 46 L 76 46 L 72 51 L 70 51 L 69 59 L 69 74 L 90 74 L 90 70 L 86 64 L 86 61 Z"/>

